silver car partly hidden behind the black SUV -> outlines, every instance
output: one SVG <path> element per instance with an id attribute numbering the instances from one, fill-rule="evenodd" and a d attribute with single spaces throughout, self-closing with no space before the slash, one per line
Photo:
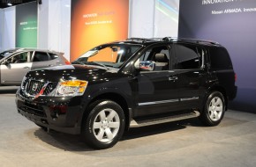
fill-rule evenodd
<path id="1" fill-rule="evenodd" d="M 33 69 L 70 64 L 63 54 L 55 51 L 29 48 L 4 51 L 0 59 L 0 85 L 19 85 L 23 76 Z"/>

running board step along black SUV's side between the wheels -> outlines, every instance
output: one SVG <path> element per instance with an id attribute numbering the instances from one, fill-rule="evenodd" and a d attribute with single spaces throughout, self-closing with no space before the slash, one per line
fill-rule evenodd
<path id="1" fill-rule="evenodd" d="M 186 120 L 186 119 L 192 119 L 195 117 L 199 117 L 200 113 L 198 111 L 193 111 L 191 113 L 182 113 L 179 115 L 173 115 L 169 117 L 162 117 L 158 119 L 151 119 L 151 120 L 131 120 L 130 127 L 145 127 L 155 124 L 162 124 L 166 122 L 172 122 L 177 120 Z"/>

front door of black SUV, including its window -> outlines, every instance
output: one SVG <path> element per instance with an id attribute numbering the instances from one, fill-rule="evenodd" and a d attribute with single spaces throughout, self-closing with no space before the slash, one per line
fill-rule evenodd
<path id="1" fill-rule="evenodd" d="M 155 62 L 153 71 L 140 71 L 136 78 L 138 94 L 135 117 L 169 113 L 179 105 L 177 77 L 171 70 L 169 46 L 148 48 L 140 62 Z"/>

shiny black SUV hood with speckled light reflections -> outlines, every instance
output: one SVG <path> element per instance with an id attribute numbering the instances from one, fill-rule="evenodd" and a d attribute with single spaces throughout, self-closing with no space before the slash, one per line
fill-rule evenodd
<path id="1" fill-rule="evenodd" d="M 35 80 L 45 80 L 51 82 L 58 82 L 60 79 L 64 80 L 96 80 L 102 77 L 117 74 L 118 69 L 107 69 L 101 66 L 91 65 L 64 65 L 56 66 L 46 69 L 36 69 L 28 72 L 26 77 Z"/>

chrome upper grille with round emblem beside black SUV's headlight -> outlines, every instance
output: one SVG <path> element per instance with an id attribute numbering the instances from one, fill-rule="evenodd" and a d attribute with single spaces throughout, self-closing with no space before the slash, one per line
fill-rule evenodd
<path id="1" fill-rule="evenodd" d="M 36 96 L 42 90 L 43 86 L 46 86 L 42 95 L 49 95 L 56 87 L 55 83 L 39 81 L 26 78 L 21 84 L 21 89 L 29 96 Z"/>

